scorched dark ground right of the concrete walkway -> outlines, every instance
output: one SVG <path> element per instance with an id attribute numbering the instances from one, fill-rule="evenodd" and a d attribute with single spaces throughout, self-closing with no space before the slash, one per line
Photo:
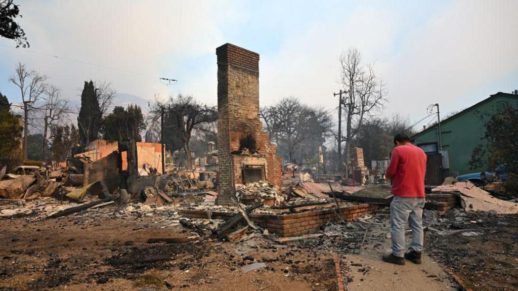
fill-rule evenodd
<path id="1" fill-rule="evenodd" d="M 425 248 L 473 290 L 518 290 L 518 215 L 452 210 Z"/>

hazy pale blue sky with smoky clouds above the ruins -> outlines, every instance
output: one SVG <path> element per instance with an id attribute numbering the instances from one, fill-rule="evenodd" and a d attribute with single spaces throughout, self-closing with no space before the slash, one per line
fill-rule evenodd
<path id="1" fill-rule="evenodd" d="M 261 55 L 262 105 L 295 96 L 335 108 L 337 59 L 350 47 L 387 83 L 386 115 L 416 121 L 431 103 L 447 113 L 518 89 L 518 1 L 16 2 L 31 47 L 0 38 L 10 101 L 20 101 L 7 80 L 20 61 L 72 100 L 93 79 L 142 99 L 183 93 L 215 104 L 215 48 L 225 42 Z"/>

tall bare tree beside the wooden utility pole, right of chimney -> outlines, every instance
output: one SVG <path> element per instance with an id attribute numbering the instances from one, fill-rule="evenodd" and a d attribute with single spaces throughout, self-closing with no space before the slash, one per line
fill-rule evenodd
<path id="1" fill-rule="evenodd" d="M 347 94 L 342 105 L 346 117 L 345 162 L 346 176 L 350 163 L 350 150 L 354 137 L 365 120 L 369 119 L 386 103 L 386 89 L 382 79 L 376 74 L 374 66 L 362 63 L 362 54 L 357 49 L 342 52 L 339 57 L 341 66 L 340 83 Z"/>

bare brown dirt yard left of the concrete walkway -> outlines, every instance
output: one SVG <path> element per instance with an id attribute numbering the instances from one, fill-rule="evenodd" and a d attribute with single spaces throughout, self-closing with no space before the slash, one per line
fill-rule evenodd
<path id="1" fill-rule="evenodd" d="M 164 226 L 157 216 L 123 219 L 108 212 L 93 220 L 87 215 L 2 219 L 0 290 L 336 288 L 330 254 L 285 248 L 253 235 L 239 244 L 199 240 L 196 232 Z M 150 238 L 180 242 L 148 243 Z M 261 268 L 245 273 L 247 266 Z"/>

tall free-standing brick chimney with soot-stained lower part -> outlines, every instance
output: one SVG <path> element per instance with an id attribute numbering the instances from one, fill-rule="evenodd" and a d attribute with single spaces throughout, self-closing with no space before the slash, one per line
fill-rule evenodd
<path id="1" fill-rule="evenodd" d="M 276 147 L 268 142 L 259 118 L 259 54 L 226 43 L 216 49 L 218 57 L 218 204 L 229 204 L 235 192 L 240 165 L 233 151 L 241 140 L 255 141 L 267 161 L 267 181 L 281 186 L 281 163 Z M 240 179 L 239 179 L 240 180 Z"/>

